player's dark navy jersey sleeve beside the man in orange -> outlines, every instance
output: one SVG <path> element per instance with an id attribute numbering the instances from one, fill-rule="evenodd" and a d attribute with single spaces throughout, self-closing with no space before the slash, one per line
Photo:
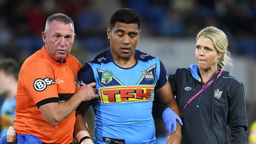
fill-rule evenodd
<path id="1" fill-rule="evenodd" d="M 95 82 L 93 68 L 88 63 L 85 63 L 84 66 L 78 71 L 77 79 L 81 87 L 83 85 Z"/>

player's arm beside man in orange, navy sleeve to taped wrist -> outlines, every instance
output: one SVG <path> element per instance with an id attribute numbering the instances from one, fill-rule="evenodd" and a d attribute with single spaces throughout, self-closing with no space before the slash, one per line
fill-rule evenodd
<path id="1" fill-rule="evenodd" d="M 95 82 L 93 70 L 89 64 L 86 63 L 79 70 L 78 82 L 82 87 L 86 86 L 87 83 Z M 85 113 L 90 105 L 91 101 L 82 102 L 76 109 L 76 122 L 74 124 L 73 136 L 76 138 L 76 141 L 81 144 L 93 144 L 88 132 L 87 123 L 84 119 Z"/>

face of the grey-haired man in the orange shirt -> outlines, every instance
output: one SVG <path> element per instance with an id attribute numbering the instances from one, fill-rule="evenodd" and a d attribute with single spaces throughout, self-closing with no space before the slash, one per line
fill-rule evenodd
<path id="1" fill-rule="evenodd" d="M 72 24 L 63 24 L 56 20 L 50 23 L 47 33 L 42 37 L 48 55 L 56 62 L 63 63 L 65 57 L 70 53 L 76 34 L 73 32 Z"/>

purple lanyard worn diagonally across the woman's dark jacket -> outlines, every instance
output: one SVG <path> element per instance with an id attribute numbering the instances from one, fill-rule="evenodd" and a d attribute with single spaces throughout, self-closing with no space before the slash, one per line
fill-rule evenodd
<path id="1" fill-rule="evenodd" d="M 221 72 L 219 72 L 217 79 L 219 79 L 219 77 L 221 76 L 223 70 L 221 69 Z M 194 94 L 191 98 L 189 98 L 189 100 L 186 102 L 186 104 L 184 105 L 184 107 L 181 110 L 181 114 L 184 113 L 186 107 L 189 105 L 189 103 L 191 103 L 193 100 L 195 100 L 195 98 L 197 98 L 200 94 L 202 94 L 202 92 L 204 92 L 204 90 L 206 90 L 208 87 L 210 87 L 210 85 L 213 83 L 214 78 L 211 79 L 211 81 L 209 83 L 207 83 L 206 85 L 204 85 L 202 87 L 202 89 L 200 89 L 196 94 Z"/>

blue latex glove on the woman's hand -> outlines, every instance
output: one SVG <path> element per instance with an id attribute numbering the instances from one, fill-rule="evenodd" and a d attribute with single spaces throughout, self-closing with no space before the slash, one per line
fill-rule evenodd
<path id="1" fill-rule="evenodd" d="M 165 129 L 170 135 L 172 134 L 172 127 L 173 132 L 175 132 L 177 129 L 176 120 L 180 123 L 181 126 L 183 125 L 180 117 L 171 108 L 168 107 L 165 109 L 163 112 L 163 122 L 165 123 Z"/>

